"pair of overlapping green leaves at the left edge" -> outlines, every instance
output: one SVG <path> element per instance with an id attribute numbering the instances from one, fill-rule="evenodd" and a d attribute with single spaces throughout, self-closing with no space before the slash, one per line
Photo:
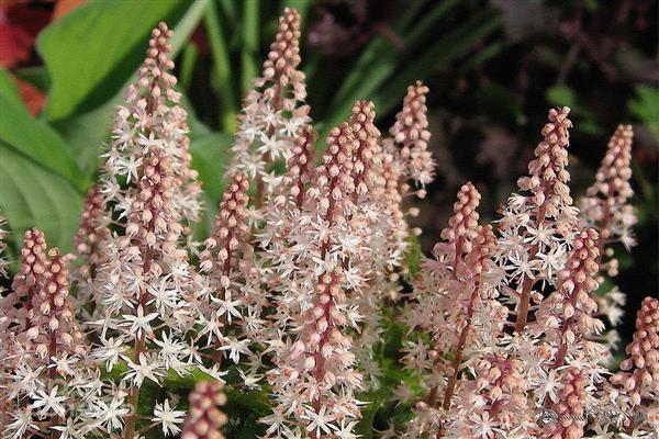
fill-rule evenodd
<path id="1" fill-rule="evenodd" d="M 88 179 L 62 137 L 27 113 L 0 71 L 0 209 L 12 230 L 40 227 L 51 245 L 69 250 Z M 22 234 L 11 237 L 19 248 Z"/>

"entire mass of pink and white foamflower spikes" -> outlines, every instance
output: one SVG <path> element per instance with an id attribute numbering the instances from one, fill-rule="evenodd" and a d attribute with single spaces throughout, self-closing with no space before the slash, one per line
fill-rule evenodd
<path id="1" fill-rule="evenodd" d="M 569 109 L 551 110 L 496 230 L 479 224 L 481 196 L 466 183 L 434 258 L 412 273 L 405 256 L 420 230 L 407 217 L 417 210 L 403 200 L 425 196 L 435 175 L 428 89 L 410 86 L 384 139 L 373 103 L 355 102 L 316 166 L 297 69 L 300 16 L 286 9 L 245 99 L 226 190 L 199 250 L 190 225 L 200 185 L 170 36 L 164 23 L 153 31 L 116 109 L 75 238 L 75 274 L 72 256 L 25 232 L 0 301 L 3 438 L 139 439 L 157 429 L 221 439 L 227 418 L 216 406 L 228 374 L 232 385 L 269 392 L 266 438 L 355 439 L 369 404 L 361 392 L 390 380 L 375 354 L 384 314 L 407 327 L 400 364 L 413 385 L 393 392 L 411 403 L 411 420 L 404 431 L 392 423 L 383 437 L 657 435 L 659 302 L 644 301 L 629 358 L 612 378 L 600 342 L 599 316 L 619 318 L 616 291 L 596 296 L 602 272 L 616 268 L 606 246 L 633 243 L 629 126 L 614 134 L 580 216 L 568 187 Z M 0 229 L 0 277 L 4 237 Z M 193 372 L 215 381 L 197 383 L 186 416 L 168 384 Z M 589 409 L 624 416 L 590 426 Z"/>

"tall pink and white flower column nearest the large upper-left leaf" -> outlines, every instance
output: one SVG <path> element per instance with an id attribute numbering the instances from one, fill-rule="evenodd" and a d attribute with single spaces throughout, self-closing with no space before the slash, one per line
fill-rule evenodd
<path id="1" fill-rule="evenodd" d="M 100 345 L 94 356 L 108 371 L 125 364 L 108 398 L 125 412 L 103 424 L 110 432 L 125 419 L 123 437 L 137 434 L 139 387 L 159 383 L 168 370 L 186 374 L 201 358 L 192 347 L 199 306 L 210 285 L 189 263 L 181 245 L 188 222 L 198 217 L 199 184 L 189 168 L 186 111 L 169 74 L 171 31 L 160 23 L 152 33 L 139 78 L 118 108 L 105 154 L 102 192 L 120 232 L 103 245 L 104 263 L 96 285 L 102 304 Z"/>

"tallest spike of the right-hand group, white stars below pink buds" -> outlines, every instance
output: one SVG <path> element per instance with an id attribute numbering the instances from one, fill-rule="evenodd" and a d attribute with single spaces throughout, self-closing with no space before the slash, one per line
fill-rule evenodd
<path id="1" fill-rule="evenodd" d="M 544 140 L 528 164 L 529 176 L 517 181 L 528 194 L 513 194 L 499 223 L 494 258 L 504 292 L 516 303 L 517 333 L 526 326 L 532 296 L 539 299 L 534 288 L 540 281 L 552 283 L 562 268 L 578 221 L 568 187 L 569 112 L 566 106 L 549 111 Z"/>

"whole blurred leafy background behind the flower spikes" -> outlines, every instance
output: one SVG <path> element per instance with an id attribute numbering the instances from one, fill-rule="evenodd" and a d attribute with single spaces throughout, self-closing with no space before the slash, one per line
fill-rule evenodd
<path id="1" fill-rule="evenodd" d="M 634 124 L 639 245 L 621 268 L 618 283 L 629 293 L 629 309 L 657 292 L 655 1 L 96 0 L 76 1 L 72 11 L 60 3 L 0 3 L 0 210 L 13 232 L 14 260 L 22 232 L 32 226 L 43 228 L 51 245 L 72 249 L 114 106 L 142 61 L 150 29 L 161 20 L 176 31 L 176 75 L 208 206 L 198 230 L 202 236 L 222 192 L 241 100 L 267 56 L 278 14 L 292 5 L 304 21 L 302 66 L 321 133 L 343 121 L 357 99 L 375 101 L 384 131 L 409 83 L 422 79 L 431 88 L 438 179 L 420 206 L 415 225 L 424 235 L 407 256 L 412 275 L 422 249 L 427 252 L 444 227 L 457 188 L 472 180 L 483 193 L 483 217 L 495 218 L 525 173 L 547 109 L 569 105 L 577 199 L 616 124 Z M 402 328 L 390 325 L 386 345 L 376 349 L 384 387 L 413 383 L 393 367 Z M 628 315 L 626 338 L 632 325 Z M 170 378 L 169 385 L 179 386 L 183 397 L 192 382 Z M 144 392 L 142 404 L 152 404 L 157 392 Z M 228 427 L 231 437 L 253 437 L 263 427 L 254 416 L 264 392 L 230 392 L 232 403 L 242 402 L 234 407 L 241 420 Z M 386 401 L 384 392 L 364 399 L 377 403 L 359 427 L 366 438 L 407 414 Z M 241 404 L 250 414 L 238 416 Z"/>

